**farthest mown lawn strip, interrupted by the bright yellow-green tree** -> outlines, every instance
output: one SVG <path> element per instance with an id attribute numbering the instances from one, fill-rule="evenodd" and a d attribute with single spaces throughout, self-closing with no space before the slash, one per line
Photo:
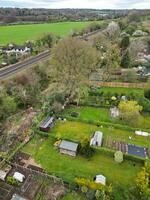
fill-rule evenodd
<path id="1" fill-rule="evenodd" d="M 93 121 L 96 123 L 99 122 L 109 122 L 112 124 L 122 124 L 122 125 L 127 125 L 124 124 L 121 120 L 119 119 L 112 119 L 109 114 L 109 109 L 106 108 L 95 108 L 95 107 L 70 107 L 65 109 L 63 112 L 64 116 L 70 116 L 71 112 L 79 112 L 80 116 L 77 117 L 79 120 L 83 121 Z M 72 120 L 74 120 L 74 117 L 71 117 Z M 141 116 L 139 123 L 137 124 L 138 128 L 143 128 L 143 129 L 150 129 L 150 116 Z"/>

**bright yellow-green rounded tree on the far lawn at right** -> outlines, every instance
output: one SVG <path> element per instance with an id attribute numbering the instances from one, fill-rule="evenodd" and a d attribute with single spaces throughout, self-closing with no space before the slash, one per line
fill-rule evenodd
<path id="1" fill-rule="evenodd" d="M 135 125 L 140 118 L 140 111 L 142 106 L 138 105 L 136 101 L 121 101 L 119 103 L 120 118 L 122 121 Z"/>

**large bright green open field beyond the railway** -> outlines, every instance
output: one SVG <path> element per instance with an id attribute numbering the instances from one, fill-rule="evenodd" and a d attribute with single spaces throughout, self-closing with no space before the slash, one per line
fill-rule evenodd
<path id="1" fill-rule="evenodd" d="M 48 32 L 58 36 L 67 36 L 73 29 L 82 29 L 91 22 L 61 22 L 30 25 L 0 26 L 0 45 L 8 43 L 23 44 L 27 40 L 34 40 Z"/>

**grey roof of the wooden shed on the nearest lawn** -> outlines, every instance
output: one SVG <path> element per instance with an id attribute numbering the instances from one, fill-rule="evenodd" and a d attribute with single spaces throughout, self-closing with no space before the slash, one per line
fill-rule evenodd
<path id="1" fill-rule="evenodd" d="M 78 148 L 78 144 L 74 143 L 74 142 L 69 142 L 69 141 L 66 141 L 66 140 L 62 140 L 62 142 L 60 143 L 59 148 L 76 152 L 77 148 Z"/>

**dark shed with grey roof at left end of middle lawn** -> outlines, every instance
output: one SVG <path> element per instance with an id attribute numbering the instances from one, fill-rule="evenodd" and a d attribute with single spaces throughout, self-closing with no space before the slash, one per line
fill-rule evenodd
<path id="1" fill-rule="evenodd" d="M 41 124 L 40 124 L 40 131 L 48 132 L 51 128 L 55 125 L 55 118 L 54 117 L 47 117 Z"/>

